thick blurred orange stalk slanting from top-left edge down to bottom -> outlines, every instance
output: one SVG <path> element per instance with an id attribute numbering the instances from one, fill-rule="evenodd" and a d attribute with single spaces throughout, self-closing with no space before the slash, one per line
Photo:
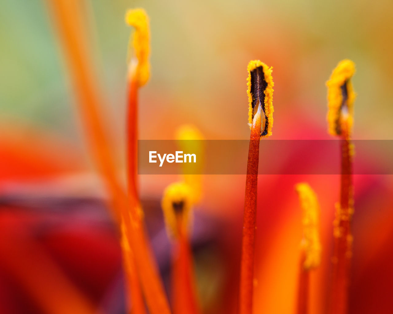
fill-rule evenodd
<path id="1" fill-rule="evenodd" d="M 86 40 L 81 35 L 83 19 L 80 15 L 78 2 L 75 0 L 56 0 L 48 3 L 68 61 L 70 76 L 78 97 L 78 109 L 92 156 L 110 195 L 110 205 L 114 216 L 118 223 L 120 223 L 121 218 L 124 219 L 126 235 L 134 252 L 135 264 L 140 272 L 147 304 L 152 314 L 168 314 L 170 313 L 169 305 L 142 226 L 138 197 L 134 192 L 127 195 L 116 176 L 117 171 L 111 155 L 112 150 L 108 144 L 109 141 L 104 131 L 105 126 L 99 113 L 99 108 L 102 105 L 101 97 L 99 97 L 99 89 L 88 57 Z M 123 252 L 123 254 L 125 258 L 128 257 L 126 252 Z M 131 261 L 130 267 L 133 265 L 134 263 Z M 133 270 L 132 273 L 136 273 L 136 270 Z M 132 287 L 137 285 L 134 278 L 132 274 L 127 272 L 127 279 Z M 133 294 L 132 291 L 131 294 Z M 137 297 L 132 296 L 131 299 Z M 139 300 L 139 302 L 143 301 Z"/>

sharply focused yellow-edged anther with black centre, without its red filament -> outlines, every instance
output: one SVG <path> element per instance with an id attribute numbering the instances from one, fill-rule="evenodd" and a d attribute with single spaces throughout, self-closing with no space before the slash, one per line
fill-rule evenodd
<path id="1" fill-rule="evenodd" d="M 272 69 L 259 60 L 252 60 L 247 66 L 248 123 L 251 126 L 257 106 L 261 106 L 263 111 L 261 137 L 272 135 L 274 111 Z"/>

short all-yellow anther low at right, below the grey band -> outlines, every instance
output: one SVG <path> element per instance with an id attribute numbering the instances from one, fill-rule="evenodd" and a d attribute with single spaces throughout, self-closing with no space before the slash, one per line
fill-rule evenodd
<path id="1" fill-rule="evenodd" d="M 320 206 L 315 192 L 307 183 L 298 183 L 295 186 L 299 195 L 300 206 L 303 210 L 303 239 L 301 249 L 305 253 L 303 267 L 315 268 L 321 262 L 321 243 L 319 238 Z"/>

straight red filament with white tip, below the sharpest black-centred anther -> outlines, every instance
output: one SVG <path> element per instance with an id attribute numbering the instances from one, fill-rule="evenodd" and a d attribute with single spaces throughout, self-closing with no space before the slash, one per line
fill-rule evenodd
<path id="1" fill-rule="evenodd" d="M 239 313 L 252 313 L 254 281 L 254 246 L 257 214 L 257 180 L 259 163 L 259 142 L 261 137 L 261 106 L 255 113 L 248 148 L 246 193 L 244 199 L 242 254 L 240 266 Z"/>

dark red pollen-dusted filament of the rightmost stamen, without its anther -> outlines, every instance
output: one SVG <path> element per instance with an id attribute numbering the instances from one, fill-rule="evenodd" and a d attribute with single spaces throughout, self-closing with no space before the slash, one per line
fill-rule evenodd
<path id="1" fill-rule="evenodd" d="M 353 214 L 352 147 L 349 126 L 342 123 L 340 205 L 334 221 L 334 255 L 331 313 L 348 313 L 348 289 L 351 271 Z"/>

